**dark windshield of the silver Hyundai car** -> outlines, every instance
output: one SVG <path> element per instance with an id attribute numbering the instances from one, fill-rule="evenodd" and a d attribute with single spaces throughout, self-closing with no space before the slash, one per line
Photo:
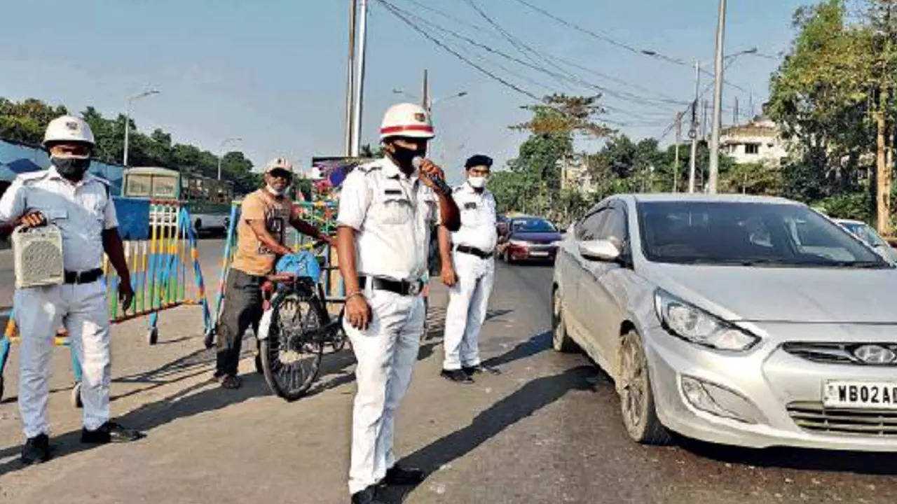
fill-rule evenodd
<path id="1" fill-rule="evenodd" d="M 797 204 L 643 202 L 638 215 L 642 249 L 654 262 L 891 267 L 848 232 Z"/>

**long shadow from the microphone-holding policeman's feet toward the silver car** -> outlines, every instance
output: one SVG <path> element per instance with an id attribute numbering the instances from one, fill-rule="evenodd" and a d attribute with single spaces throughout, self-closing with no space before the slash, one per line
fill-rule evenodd
<path id="1" fill-rule="evenodd" d="M 476 415 L 470 425 L 405 456 L 399 464 L 421 467 L 428 475 L 433 474 L 442 465 L 466 456 L 502 430 L 552 404 L 568 391 L 592 390 L 588 378 L 595 373 L 595 368 L 591 366 L 578 366 L 553 376 L 533 379 Z M 399 502 L 413 490 L 414 487 L 388 489 L 388 496 L 392 498 L 390 501 Z"/>

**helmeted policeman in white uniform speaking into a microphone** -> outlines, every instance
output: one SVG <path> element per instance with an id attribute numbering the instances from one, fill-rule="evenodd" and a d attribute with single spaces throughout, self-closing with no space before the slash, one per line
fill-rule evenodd
<path id="1" fill-rule="evenodd" d="M 340 195 L 336 241 L 346 303 L 344 329 L 358 365 L 349 491 L 353 504 L 375 504 L 380 483 L 422 482 L 419 469 L 396 465 L 396 408 L 411 382 L 423 333 L 422 277 L 431 227 L 459 226 L 442 170 L 426 160 L 430 115 L 411 103 L 387 110 L 385 155 L 354 169 Z"/>

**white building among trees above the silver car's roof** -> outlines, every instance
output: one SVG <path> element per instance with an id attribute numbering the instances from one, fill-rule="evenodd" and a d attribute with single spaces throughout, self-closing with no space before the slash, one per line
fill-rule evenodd
<path id="1" fill-rule="evenodd" d="M 773 121 L 756 117 L 753 121 L 722 129 L 719 150 L 739 164 L 772 163 L 778 165 L 788 155 L 785 143 L 779 136 L 779 127 Z"/>

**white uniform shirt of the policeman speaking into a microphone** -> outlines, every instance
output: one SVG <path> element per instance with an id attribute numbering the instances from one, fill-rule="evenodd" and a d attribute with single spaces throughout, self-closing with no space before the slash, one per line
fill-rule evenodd
<path id="1" fill-rule="evenodd" d="M 427 272 L 430 232 L 439 215 L 436 195 L 417 172 L 406 176 L 384 157 L 345 178 L 336 222 L 356 230 L 358 274 L 418 280 Z"/>

